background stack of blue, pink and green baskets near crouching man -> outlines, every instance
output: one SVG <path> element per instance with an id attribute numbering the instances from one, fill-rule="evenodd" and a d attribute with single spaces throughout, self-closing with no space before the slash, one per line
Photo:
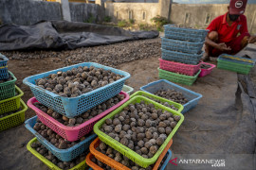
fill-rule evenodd
<path id="1" fill-rule="evenodd" d="M 159 78 L 192 85 L 201 72 L 199 61 L 208 32 L 174 25 L 164 26 L 164 32 Z"/>

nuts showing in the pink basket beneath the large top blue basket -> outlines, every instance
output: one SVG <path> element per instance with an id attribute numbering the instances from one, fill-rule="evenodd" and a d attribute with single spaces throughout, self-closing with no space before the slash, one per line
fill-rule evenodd
<path id="1" fill-rule="evenodd" d="M 76 116 L 74 118 L 68 118 L 54 110 L 51 110 L 47 108 L 45 105 L 35 102 L 33 105 L 37 107 L 40 110 L 43 110 L 46 112 L 49 116 L 56 119 L 58 122 L 62 123 L 64 126 L 67 127 L 77 127 L 80 126 L 82 123 L 90 120 L 91 118 L 101 114 L 101 112 L 110 109 L 111 107 L 117 105 L 120 101 L 124 99 L 123 94 L 118 94 L 113 98 L 108 99 L 107 101 L 101 103 L 101 105 L 98 105 L 94 107 L 93 109 L 87 110 L 84 113 L 82 113 L 79 116 Z"/>

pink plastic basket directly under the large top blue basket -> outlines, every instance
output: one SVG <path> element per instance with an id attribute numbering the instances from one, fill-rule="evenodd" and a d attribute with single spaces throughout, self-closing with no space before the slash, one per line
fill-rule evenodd
<path id="1" fill-rule="evenodd" d="M 47 127 L 50 127 L 53 131 L 61 135 L 67 141 L 73 142 L 81 139 L 82 136 L 91 132 L 93 130 L 94 124 L 96 124 L 104 116 L 106 116 L 113 110 L 119 108 L 119 106 L 125 103 L 130 97 L 128 93 L 120 92 L 119 94 L 124 94 L 124 99 L 122 101 L 120 101 L 117 105 L 113 106 L 112 108 L 105 110 L 101 114 L 84 122 L 82 125 L 78 127 L 66 127 L 54 118 L 52 118 L 51 116 L 49 116 L 43 110 L 39 110 L 38 108 L 36 108 L 33 105 L 33 103 L 38 102 L 35 97 L 32 97 L 27 101 L 27 106 L 36 112 L 38 118 L 43 124 L 45 124 Z"/>

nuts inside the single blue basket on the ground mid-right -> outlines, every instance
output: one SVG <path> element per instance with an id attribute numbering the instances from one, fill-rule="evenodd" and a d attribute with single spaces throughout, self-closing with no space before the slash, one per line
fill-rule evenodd
<path id="1" fill-rule="evenodd" d="M 189 100 L 183 95 L 183 93 L 176 92 L 170 89 L 168 90 L 161 89 L 159 91 L 156 91 L 154 94 L 160 97 L 166 98 L 168 100 L 172 100 L 181 105 L 184 105 L 189 102 Z"/>

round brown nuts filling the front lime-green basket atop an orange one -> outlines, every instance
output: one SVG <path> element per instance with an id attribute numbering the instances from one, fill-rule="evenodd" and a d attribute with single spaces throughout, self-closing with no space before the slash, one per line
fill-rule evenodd
<path id="1" fill-rule="evenodd" d="M 106 119 L 101 131 L 146 159 L 152 158 L 180 120 L 180 116 L 144 101 L 130 104 L 113 119 Z"/>

